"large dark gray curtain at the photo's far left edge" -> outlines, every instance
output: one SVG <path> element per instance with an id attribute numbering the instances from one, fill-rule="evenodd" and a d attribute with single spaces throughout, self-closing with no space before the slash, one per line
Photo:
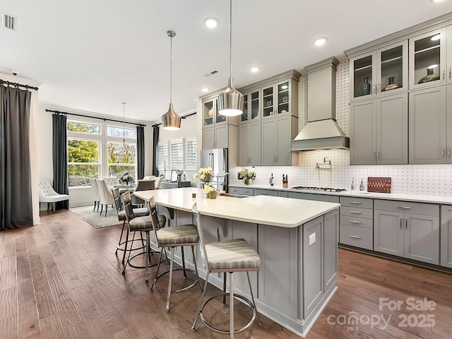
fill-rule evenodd
<path id="1" fill-rule="evenodd" d="M 28 90 L 0 86 L 0 230 L 33 225 Z"/>

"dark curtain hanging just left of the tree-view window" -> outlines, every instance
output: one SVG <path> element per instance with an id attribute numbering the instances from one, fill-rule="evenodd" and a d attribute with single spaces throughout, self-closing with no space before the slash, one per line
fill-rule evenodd
<path id="1" fill-rule="evenodd" d="M 64 114 L 53 114 L 53 169 L 54 169 L 54 190 L 59 194 L 69 194 L 68 188 L 68 137 L 66 131 L 66 116 Z M 69 200 L 59 201 L 55 208 L 69 209 Z"/>

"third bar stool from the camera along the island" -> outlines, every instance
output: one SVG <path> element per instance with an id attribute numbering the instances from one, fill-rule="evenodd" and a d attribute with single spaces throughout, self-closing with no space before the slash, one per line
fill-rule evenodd
<path id="1" fill-rule="evenodd" d="M 145 251 L 144 252 L 131 256 L 131 251 L 133 250 L 133 241 L 132 241 L 131 248 L 128 250 L 129 256 L 127 257 L 127 262 L 124 265 L 124 270 L 122 270 L 122 274 L 124 274 L 126 272 L 127 265 L 129 265 L 133 268 L 145 268 L 145 270 L 146 270 L 145 281 L 148 281 L 149 280 L 148 279 L 149 278 L 148 268 L 150 267 L 149 266 L 150 254 L 157 253 L 155 251 L 150 250 L 150 242 L 149 242 L 149 232 L 153 230 L 153 221 L 150 218 L 150 215 L 145 215 L 143 217 L 137 217 L 133 214 L 130 192 L 121 194 L 121 201 L 124 206 L 124 211 L 126 213 L 126 221 L 127 221 L 127 225 L 129 225 L 129 232 L 145 232 L 145 234 L 146 234 L 146 243 L 145 243 Z M 166 223 L 165 215 L 158 215 L 158 216 L 156 215 L 155 218 L 156 218 L 155 222 L 157 223 L 157 225 L 159 225 L 159 227 L 165 227 L 165 223 Z M 135 235 L 133 235 L 133 237 L 135 237 Z M 145 265 L 144 266 L 133 266 L 131 264 L 131 260 L 141 254 L 145 255 Z M 160 256 L 161 256 L 161 254 L 160 254 Z M 160 263 L 160 261 L 159 261 L 159 263 Z M 152 266 L 154 266 L 154 265 L 156 265 L 156 264 L 153 264 Z"/>

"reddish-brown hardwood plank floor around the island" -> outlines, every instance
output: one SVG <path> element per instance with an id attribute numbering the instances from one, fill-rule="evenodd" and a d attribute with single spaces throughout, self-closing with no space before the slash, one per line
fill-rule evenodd
<path id="1" fill-rule="evenodd" d="M 0 338 L 228 338 L 201 322 L 191 333 L 199 290 L 173 295 L 165 313 L 144 270 L 121 275 L 120 225 L 96 230 L 66 210 L 41 222 L 0 232 Z M 339 249 L 338 287 L 307 339 L 452 338 L 452 275 Z M 220 302 L 210 312 L 227 319 Z M 262 318 L 237 338 L 299 338 Z"/>

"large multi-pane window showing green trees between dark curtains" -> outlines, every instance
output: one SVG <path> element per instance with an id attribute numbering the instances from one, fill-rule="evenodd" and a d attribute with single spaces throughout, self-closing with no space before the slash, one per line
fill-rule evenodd
<path id="1" fill-rule="evenodd" d="M 106 122 L 71 120 L 68 131 L 69 187 L 90 186 L 90 179 L 129 173 L 136 179 L 136 129 Z"/>

